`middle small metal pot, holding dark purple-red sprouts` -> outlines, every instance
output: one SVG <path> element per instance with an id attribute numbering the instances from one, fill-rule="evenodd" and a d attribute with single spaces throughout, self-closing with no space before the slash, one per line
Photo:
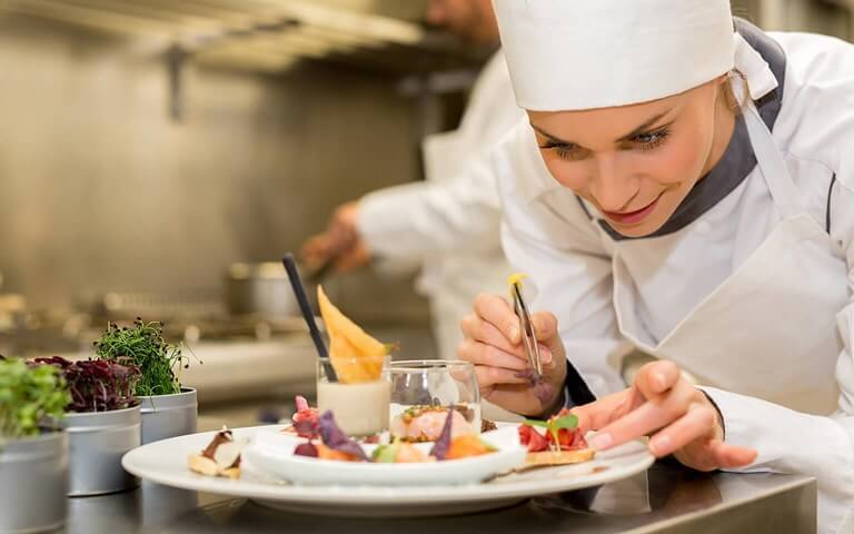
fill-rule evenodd
<path id="1" fill-rule="evenodd" d="M 139 481 L 121 466 L 121 457 L 141 444 L 139 406 L 111 412 L 67 414 L 63 426 L 71 444 L 68 496 L 122 492 Z"/>

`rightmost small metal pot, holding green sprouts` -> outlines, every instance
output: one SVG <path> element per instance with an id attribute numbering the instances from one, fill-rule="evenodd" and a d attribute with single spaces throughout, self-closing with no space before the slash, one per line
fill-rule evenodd
<path id="1" fill-rule="evenodd" d="M 139 397 L 142 413 L 142 445 L 196 433 L 199 404 L 196 389 L 185 387 L 175 395 Z"/>

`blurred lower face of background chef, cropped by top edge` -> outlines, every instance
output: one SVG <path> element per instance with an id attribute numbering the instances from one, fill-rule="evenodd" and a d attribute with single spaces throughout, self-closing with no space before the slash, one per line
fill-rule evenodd
<path id="1" fill-rule="evenodd" d="M 427 22 L 477 44 L 498 43 L 491 0 L 429 0 Z"/>

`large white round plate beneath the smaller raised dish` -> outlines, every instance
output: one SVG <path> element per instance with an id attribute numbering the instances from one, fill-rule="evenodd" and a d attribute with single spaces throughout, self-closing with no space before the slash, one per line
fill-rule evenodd
<path id="1" fill-rule="evenodd" d="M 236 428 L 232 432 L 236 438 L 255 441 L 259 433 L 279 428 L 282 426 Z M 167 486 L 252 498 L 300 513 L 394 517 L 476 512 L 537 495 L 598 486 L 640 473 L 655 459 L 643 443 L 632 442 L 599 453 L 592 462 L 512 473 L 484 483 L 304 485 L 292 484 L 272 473 L 262 472 L 251 462 L 241 465 L 242 473 L 237 481 L 190 472 L 187 468 L 187 457 L 203 449 L 214 434 L 216 433 L 190 434 L 137 447 L 125 455 L 122 465 L 140 478 Z"/>

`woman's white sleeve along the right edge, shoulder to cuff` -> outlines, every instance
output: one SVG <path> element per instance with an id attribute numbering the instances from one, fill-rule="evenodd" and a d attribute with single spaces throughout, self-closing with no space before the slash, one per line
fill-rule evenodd
<path id="1" fill-rule="evenodd" d="M 818 483 L 818 530 L 854 532 L 854 48 L 827 37 L 775 33 L 786 49 L 784 111 L 774 128 L 778 141 L 810 154 L 836 171 L 830 205 L 831 237 L 845 251 L 848 301 L 836 316 L 843 349 L 835 379 L 838 409 L 815 416 L 729 392 L 706 388 L 724 418 L 726 441 L 756 448 L 756 462 L 742 472 L 814 476 Z M 804 185 L 803 187 L 812 187 Z M 826 184 L 822 182 L 822 192 Z M 826 198 L 826 197 L 822 197 Z M 824 204 L 823 201 L 821 202 Z M 769 369 L 773 372 L 773 369 Z M 761 379 L 761 378 L 759 378 Z"/>

